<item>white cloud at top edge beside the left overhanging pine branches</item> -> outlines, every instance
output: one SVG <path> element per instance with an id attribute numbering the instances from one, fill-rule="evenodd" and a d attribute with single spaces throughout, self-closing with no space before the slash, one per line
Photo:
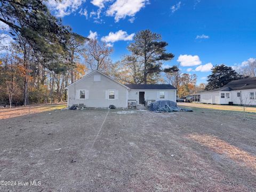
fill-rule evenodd
<path id="1" fill-rule="evenodd" d="M 47 5 L 54 11 L 54 14 L 57 17 L 65 17 L 79 9 L 79 6 L 81 6 L 85 1 L 86 0 L 49 0 Z"/>

